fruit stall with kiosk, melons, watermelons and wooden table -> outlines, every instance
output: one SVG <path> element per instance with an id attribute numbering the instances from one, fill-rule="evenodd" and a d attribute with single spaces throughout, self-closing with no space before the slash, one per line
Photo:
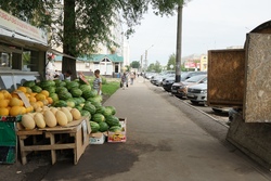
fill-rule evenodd
<path id="1" fill-rule="evenodd" d="M 44 80 L 47 35 L 0 10 L 0 164 L 22 164 L 33 151 L 74 150 L 77 164 L 89 144 L 126 141 L 126 119 L 103 106 L 90 83 Z M 89 80 L 87 80 L 89 81 Z M 95 137 L 95 134 L 100 134 Z"/>

